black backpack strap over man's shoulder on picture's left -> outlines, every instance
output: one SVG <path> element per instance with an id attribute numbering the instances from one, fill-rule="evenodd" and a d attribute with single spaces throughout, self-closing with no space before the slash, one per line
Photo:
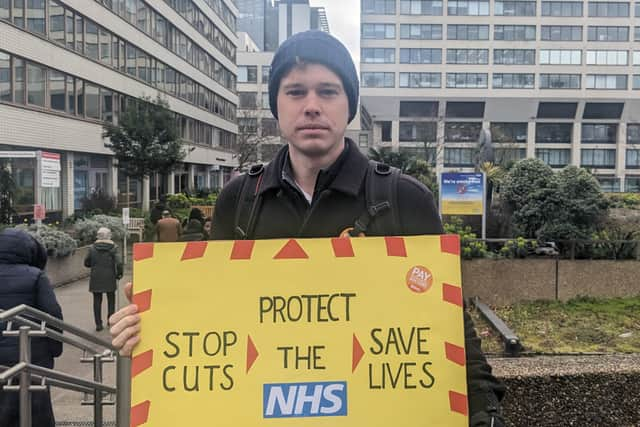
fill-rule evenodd
<path id="1" fill-rule="evenodd" d="M 238 240 L 250 239 L 253 235 L 257 213 L 262 202 L 262 197 L 259 196 L 259 193 L 263 176 L 264 165 L 253 165 L 242 182 L 236 206 L 234 227 L 236 239 Z"/>

